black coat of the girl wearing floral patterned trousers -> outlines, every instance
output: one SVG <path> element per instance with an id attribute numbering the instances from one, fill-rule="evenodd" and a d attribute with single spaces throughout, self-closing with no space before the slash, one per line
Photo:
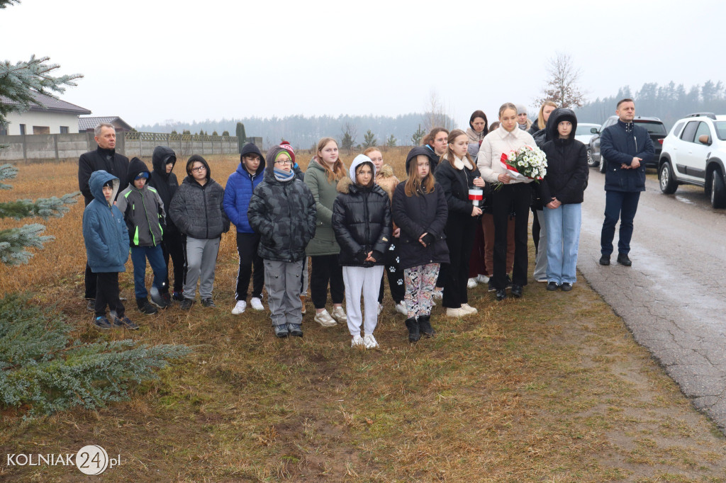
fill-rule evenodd
<path id="1" fill-rule="evenodd" d="M 393 191 L 393 221 L 401 228 L 399 250 L 401 268 L 411 268 L 429 263 L 449 263 L 449 247 L 446 245 L 444 226 L 449 215 L 444 189 L 439 183 L 431 193 L 406 196 L 406 183 L 401 182 Z M 418 239 L 421 235 L 433 235 L 433 243 L 424 247 Z"/>

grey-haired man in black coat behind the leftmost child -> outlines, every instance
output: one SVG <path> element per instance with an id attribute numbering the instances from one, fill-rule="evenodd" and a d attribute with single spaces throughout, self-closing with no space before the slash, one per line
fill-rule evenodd
<path id="1" fill-rule="evenodd" d="M 116 148 L 116 129 L 113 124 L 100 123 L 94 129 L 94 139 L 98 144 L 98 148 L 95 151 L 90 151 L 81 154 L 78 158 L 78 189 L 81 190 L 83 198 L 85 199 L 86 206 L 93 201 L 94 197 L 91 193 L 89 186 L 89 179 L 91 173 L 98 170 L 105 170 L 107 173 L 115 176 L 121 181 L 121 186 L 118 193 L 126 189 L 128 183 L 126 180 L 126 170 L 129 169 L 129 158 L 118 154 L 115 151 Z M 113 199 L 115 202 L 115 198 Z M 96 299 L 96 278 L 97 276 L 91 271 L 88 262 L 86 262 L 86 300 L 88 303 L 88 310 L 94 310 L 94 303 Z"/>

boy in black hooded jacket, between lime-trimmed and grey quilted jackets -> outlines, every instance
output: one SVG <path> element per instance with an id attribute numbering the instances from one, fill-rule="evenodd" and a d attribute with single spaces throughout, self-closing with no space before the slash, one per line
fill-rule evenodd
<path id="1" fill-rule="evenodd" d="M 179 189 L 179 181 L 176 179 L 176 175 L 171 172 L 174 170 L 174 165 L 176 165 L 176 153 L 174 153 L 173 149 L 168 146 L 156 146 L 154 148 L 152 156 L 153 171 L 149 178 L 149 186 L 155 188 L 158 192 L 161 201 L 164 203 L 164 212 L 166 213 L 169 212 L 171 199 L 174 198 L 176 190 Z M 184 245 L 179 228 L 176 228 L 174 221 L 168 216 L 166 217 L 164 236 L 161 240 L 161 251 L 167 267 L 169 257 L 171 257 L 171 262 L 174 263 L 174 292 L 172 298 L 181 302 L 184 299 L 181 295 L 181 290 L 184 288 Z M 169 286 L 168 271 L 164 286 L 167 288 Z"/>

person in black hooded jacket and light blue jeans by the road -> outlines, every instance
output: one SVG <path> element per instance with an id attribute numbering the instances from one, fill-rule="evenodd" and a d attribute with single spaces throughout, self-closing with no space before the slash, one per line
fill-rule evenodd
<path id="1" fill-rule="evenodd" d="M 587 148 L 574 139 L 577 117 L 570 109 L 550 115 L 550 141 L 542 146 L 547 154 L 547 176 L 537 186 L 544 205 L 547 230 L 547 290 L 568 292 L 576 279 L 580 239 L 580 208 L 587 180 Z"/>

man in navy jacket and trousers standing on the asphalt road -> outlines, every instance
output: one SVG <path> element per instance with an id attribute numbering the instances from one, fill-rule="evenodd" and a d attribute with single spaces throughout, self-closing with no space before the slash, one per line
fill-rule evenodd
<path id="1" fill-rule="evenodd" d="M 620 218 L 618 263 L 630 266 L 628 257 L 633 234 L 633 218 L 645 191 L 645 164 L 653 158 L 655 148 L 648 131 L 635 125 L 635 104 L 622 99 L 615 111 L 618 122 L 600 134 L 600 153 L 605 162 L 605 221 L 600 235 L 600 265 L 610 265 L 615 225 Z"/>

